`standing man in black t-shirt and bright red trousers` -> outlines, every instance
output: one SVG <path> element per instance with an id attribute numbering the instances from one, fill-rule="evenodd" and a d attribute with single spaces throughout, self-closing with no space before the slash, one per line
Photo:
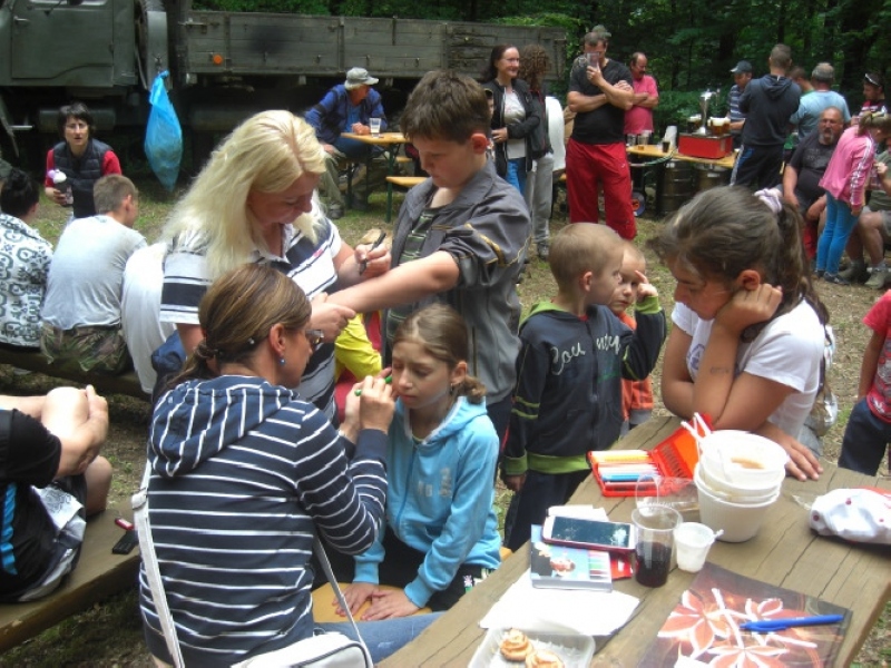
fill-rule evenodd
<path id="1" fill-rule="evenodd" d="M 566 187 L 571 223 L 598 223 L 597 189 L 604 189 L 606 224 L 633 239 L 631 178 L 625 153 L 625 112 L 634 104 L 630 70 L 606 57 L 609 32 L 597 26 L 585 36 L 584 59 L 569 76 L 575 126 L 566 147 Z M 589 55 L 589 56 L 588 56 Z"/>

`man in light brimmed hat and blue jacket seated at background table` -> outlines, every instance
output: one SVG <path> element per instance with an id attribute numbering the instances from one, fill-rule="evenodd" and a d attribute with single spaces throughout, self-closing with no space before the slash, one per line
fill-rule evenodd
<path id="1" fill-rule="evenodd" d="M 344 205 L 337 186 L 339 163 L 344 159 L 364 161 L 372 150 L 370 145 L 341 137 L 341 134 L 370 135 L 371 118 L 380 118 L 381 130 L 386 129 L 381 95 L 372 88 L 376 82 L 366 69 L 354 67 L 346 72 L 346 81 L 329 90 L 322 101 L 306 112 L 306 121 L 315 128 L 315 136 L 327 154 L 327 173 L 320 189 L 327 197 L 329 217 L 333 219 L 343 215 Z M 353 193 L 353 208 L 366 207 L 366 189 L 362 191 L 362 196 Z"/>

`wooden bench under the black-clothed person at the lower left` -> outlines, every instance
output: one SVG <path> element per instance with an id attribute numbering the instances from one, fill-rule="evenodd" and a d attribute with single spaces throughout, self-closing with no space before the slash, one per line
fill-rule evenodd
<path id="1" fill-rule="evenodd" d="M 23 642 L 65 618 L 86 610 L 94 603 L 127 587 L 136 587 L 139 548 L 129 554 L 112 554 L 111 547 L 124 536 L 115 518 L 124 515 L 117 508 L 90 518 L 75 571 L 50 596 L 31 603 L 0 605 L 0 651 Z"/>

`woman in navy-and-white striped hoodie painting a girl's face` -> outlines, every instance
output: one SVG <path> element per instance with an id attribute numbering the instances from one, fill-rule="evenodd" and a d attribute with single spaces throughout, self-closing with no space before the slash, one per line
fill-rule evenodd
<path id="1" fill-rule="evenodd" d="M 311 311 L 274 268 L 223 275 L 202 299 L 202 338 L 155 409 L 149 523 L 186 666 L 231 666 L 316 627 L 354 636 L 349 623 L 314 623 L 307 563 L 316 532 L 344 554 L 374 544 L 393 391 L 366 377 L 339 433 L 288 390 L 321 340 Z M 140 608 L 149 651 L 172 664 L 145 571 Z M 376 662 L 433 619 L 359 627 Z"/>

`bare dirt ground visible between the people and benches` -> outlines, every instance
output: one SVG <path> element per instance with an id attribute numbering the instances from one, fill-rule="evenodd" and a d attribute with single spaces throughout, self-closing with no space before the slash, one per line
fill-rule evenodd
<path id="1" fill-rule="evenodd" d="M 143 189 L 144 217 L 137 224 L 137 228 L 151 242 L 156 237 L 160 222 L 163 222 L 173 198 L 160 195 L 149 184 L 139 185 Z M 383 197 L 373 197 L 371 204 L 368 213 L 349 213 L 339 222 L 339 227 L 346 240 L 354 243 L 369 227 L 383 225 L 385 209 Z M 41 230 L 47 238 L 55 243 L 61 228 L 57 219 L 58 210 L 53 210 L 49 205 L 46 208 L 48 213 L 43 216 Z M 556 217 L 552 230 L 564 224 L 564 219 L 559 216 Z M 639 220 L 639 240 L 643 242 L 656 234 L 660 225 L 660 220 L 642 218 Z M 653 257 L 650 257 L 649 267 L 650 281 L 659 289 L 666 311 L 670 312 L 674 289 L 672 277 Z M 817 287 L 821 298 L 830 310 L 831 322 L 838 338 L 835 361 L 829 377 L 833 391 L 839 395 L 841 411 L 836 425 L 826 435 L 824 443 L 824 458 L 835 462 L 839 456 L 844 424 L 856 396 L 860 362 L 868 340 L 868 332 L 861 320 L 880 293 L 863 286 L 845 287 L 820 283 Z M 547 265 L 532 259 L 529 273 L 519 289 L 525 308 L 538 299 L 551 296 L 554 283 Z M 654 375 L 656 376 L 654 386 L 658 393 L 658 369 Z M 12 373 L 10 367 L 0 367 L 0 392 L 2 393 L 40 393 L 46 392 L 53 384 L 56 384 L 55 381 L 46 376 L 37 374 L 18 376 Z M 111 433 L 104 454 L 111 461 L 116 471 L 111 492 L 112 500 L 127 502 L 141 477 L 149 409 L 145 402 L 123 396 L 109 397 L 109 404 Z M 658 396 L 657 405 L 660 405 Z M 664 409 L 660 410 L 664 411 Z M 880 473 L 888 475 L 887 462 Z M 500 490 L 499 505 L 503 507 L 507 499 L 508 493 Z M 858 665 L 887 666 L 888 659 L 891 657 L 891 633 L 888 630 L 890 615 L 891 611 L 887 607 L 885 615 L 880 619 L 861 651 Z M 128 666 L 141 668 L 151 665 L 141 639 L 136 596 L 133 590 L 97 605 L 22 646 L 0 655 L 0 666 Z"/>

